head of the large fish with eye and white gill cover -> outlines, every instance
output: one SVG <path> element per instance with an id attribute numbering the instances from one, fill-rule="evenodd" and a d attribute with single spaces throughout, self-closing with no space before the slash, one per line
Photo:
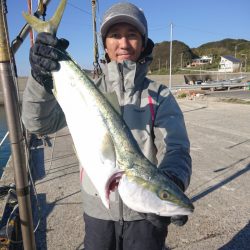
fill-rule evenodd
<path id="1" fill-rule="evenodd" d="M 118 186 L 123 202 L 141 213 L 160 216 L 189 215 L 194 211 L 190 199 L 170 178 L 124 174 Z"/>

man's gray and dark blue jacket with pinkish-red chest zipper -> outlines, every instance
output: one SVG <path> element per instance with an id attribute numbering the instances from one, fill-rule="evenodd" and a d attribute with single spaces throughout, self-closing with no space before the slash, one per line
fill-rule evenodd
<path id="1" fill-rule="evenodd" d="M 191 158 L 183 114 L 169 89 L 146 77 L 147 64 L 110 62 L 96 84 L 103 92 L 116 92 L 123 119 L 144 155 L 162 171 L 180 180 L 186 189 L 191 176 Z M 22 119 L 25 127 L 36 134 L 54 133 L 66 126 L 54 96 L 32 77 L 24 92 Z M 84 212 L 92 217 L 128 221 L 142 218 L 121 202 L 117 192 L 111 194 L 110 210 L 107 210 L 86 174 L 82 195 Z"/>

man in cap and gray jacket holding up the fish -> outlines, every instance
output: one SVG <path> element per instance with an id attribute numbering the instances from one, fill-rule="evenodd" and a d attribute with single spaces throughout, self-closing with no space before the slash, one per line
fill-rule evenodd
<path id="1" fill-rule="evenodd" d="M 189 139 L 173 95 L 166 86 L 146 78 L 154 44 L 148 38 L 144 13 L 131 3 L 111 6 L 103 17 L 101 35 L 107 63 L 96 85 L 103 92 L 116 93 L 122 117 L 142 152 L 185 190 L 191 175 Z M 24 93 L 22 118 L 33 133 L 53 133 L 66 126 L 51 92 L 51 71 L 59 68 L 53 47 L 67 46 L 66 40 L 41 33 L 31 48 L 32 76 Z M 164 248 L 170 218 L 132 211 L 117 194 L 107 210 L 86 175 L 82 194 L 85 250 Z"/>

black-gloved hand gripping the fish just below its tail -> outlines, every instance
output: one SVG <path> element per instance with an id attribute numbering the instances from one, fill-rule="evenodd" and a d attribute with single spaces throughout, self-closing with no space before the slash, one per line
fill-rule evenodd
<path id="1" fill-rule="evenodd" d="M 60 68 L 60 55 L 57 49 L 65 50 L 69 46 L 66 39 L 58 39 L 53 35 L 42 32 L 36 37 L 34 46 L 30 49 L 30 65 L 33 78 L 51 93 L 53 80 L 51 71 Z"/>

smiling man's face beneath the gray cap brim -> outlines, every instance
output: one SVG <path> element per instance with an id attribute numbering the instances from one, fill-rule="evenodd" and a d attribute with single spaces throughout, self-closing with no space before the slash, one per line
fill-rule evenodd
<path id="1" fill-rule="evenodd" d="M 138 30 L 126 23 L 119 23 L 110 28 L 105 39 L 105 51 L 111 61 L 136 62 L 144 50 L 142 36 Z"/>

